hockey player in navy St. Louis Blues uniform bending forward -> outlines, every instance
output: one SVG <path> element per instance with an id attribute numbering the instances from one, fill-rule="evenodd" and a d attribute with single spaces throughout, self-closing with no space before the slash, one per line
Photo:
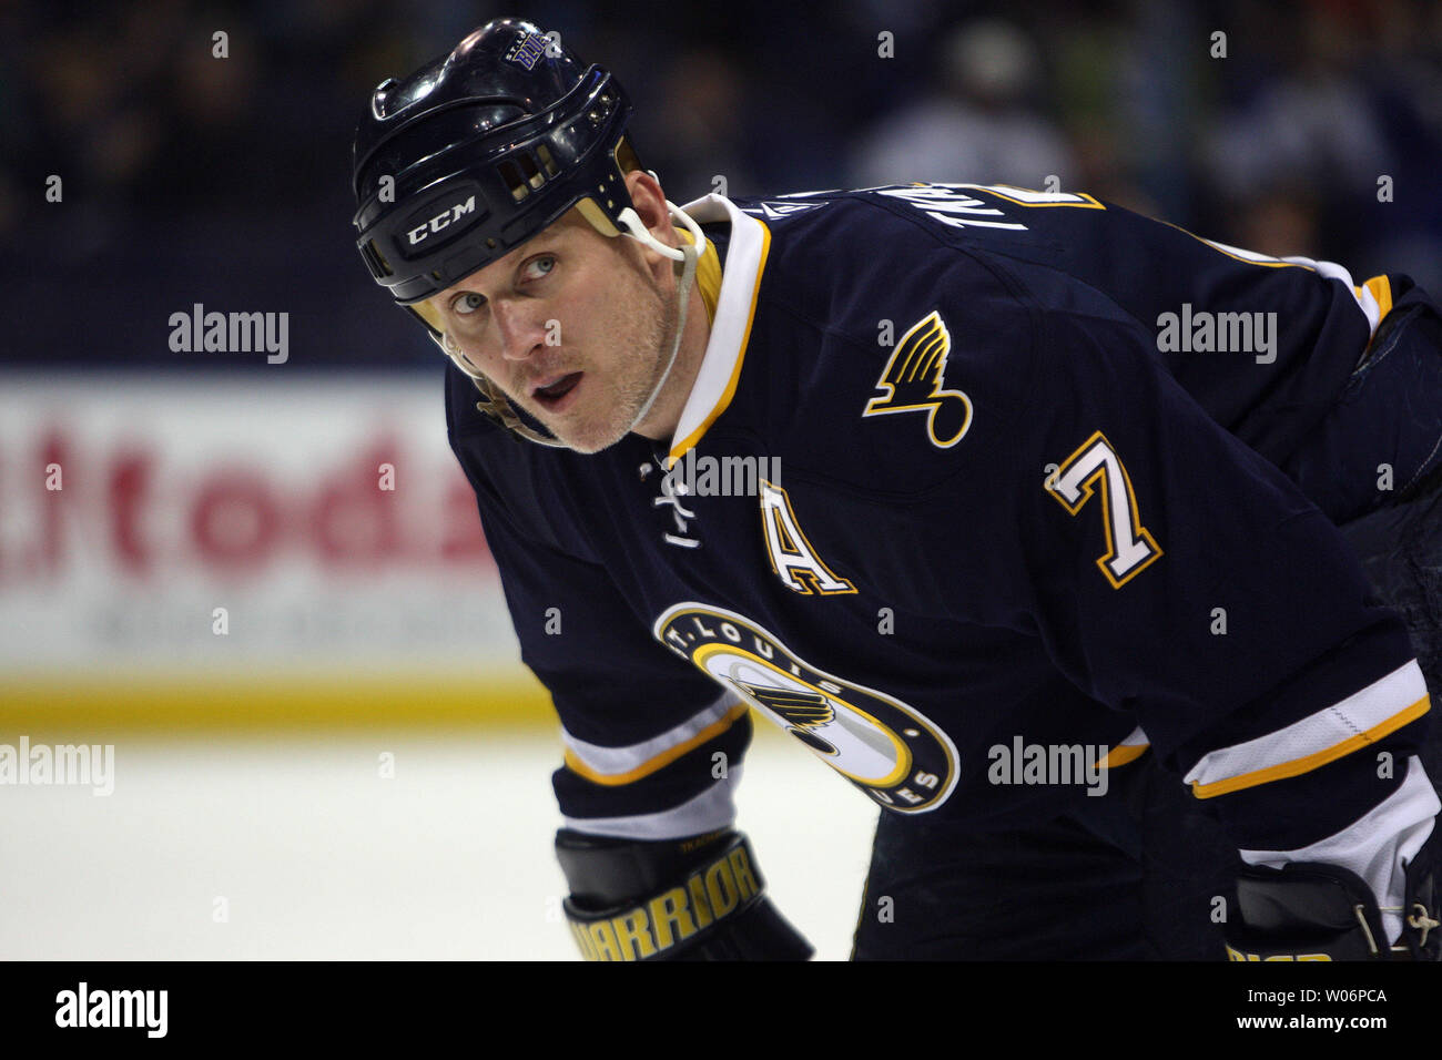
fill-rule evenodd
<path id="1" fill-rule="evenodd" d="M 1428 636 L 1425 294 L 1079 192 L 676 208 L 629 114 L 502 19 L 355 147 L 561 718 L 583 953 L 809 955 L 735 831 L 754 710 L 885 811 L 857 958 L 1435 958 L 1428 688 L 1338 531 Z"/>

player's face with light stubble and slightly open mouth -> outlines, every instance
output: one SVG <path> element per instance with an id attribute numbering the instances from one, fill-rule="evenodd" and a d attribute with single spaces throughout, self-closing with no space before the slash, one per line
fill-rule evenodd
<path id="1" fill-rule="evenodd" d="M 619 441 L 666 368 L 675 293 L 575 211 L 430 300 L 454 345 L 581 453 Z"/>

